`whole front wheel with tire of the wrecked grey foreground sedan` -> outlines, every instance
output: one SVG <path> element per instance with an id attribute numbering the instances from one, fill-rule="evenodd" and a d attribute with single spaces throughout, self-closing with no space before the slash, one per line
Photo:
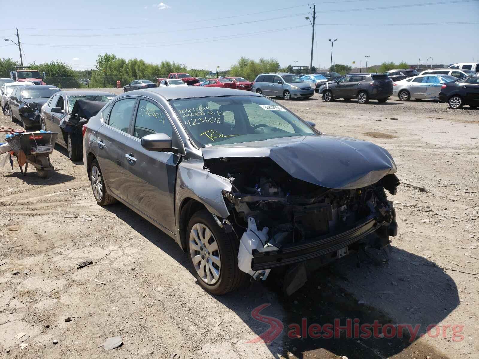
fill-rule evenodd
<path id="1" fill-rule="evenodd" d="M 220 228 L 207 210 L 194 213 L 186 234 L 190 264 L 206 292 L 225 294 L 249 280 L 238 268 L 238 237 Z"/>

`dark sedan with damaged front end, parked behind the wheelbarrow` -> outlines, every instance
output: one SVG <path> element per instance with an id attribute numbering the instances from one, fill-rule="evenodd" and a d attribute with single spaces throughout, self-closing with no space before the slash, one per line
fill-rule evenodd
<path id="1" fill-rule="evenodd" d="M 58 91 L 61 90 L 52 85 L 15 87 L 8 99 L 11 121 L 20 120 L 25 130 L 40 126 L 42 106 Z"/>

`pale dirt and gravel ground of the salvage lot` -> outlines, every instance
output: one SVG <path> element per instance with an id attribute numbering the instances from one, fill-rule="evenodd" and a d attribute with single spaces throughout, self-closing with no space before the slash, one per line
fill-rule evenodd
<path id="1" fill-rule="evenodd" d="M 385 147 L 399 179 L 424 188 L 389 196 L 399 235 L 386 263 L 346 256 L 290 297 L 274 272 L 211 296 L 169 237 L 122 204 L 98 206 L 83 163 L 57 146 L 48 179 L 0 167 L 0 358 L 478 358 L 479 111 L 318 95 L 279 102 L 324 133 Z M 20 127 L 0 115 L 4 126 Z M 267 303 L 261 314 L 283 330 L 269 345 L 248 343 L 270 327 L 251 316 Z M 288 337 L 302 318 L 421 327 L 415 340 Z M 424 335 L 430 324 L 440 326 Z M 116 336 L 121 347 L 99 347 Z"/>

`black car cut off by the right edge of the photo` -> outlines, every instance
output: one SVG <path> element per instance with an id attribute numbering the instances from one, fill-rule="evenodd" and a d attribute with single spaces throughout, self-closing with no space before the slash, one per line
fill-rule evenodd
<path id="1" fill-rule="evenodd" d="M 479 75 L 443 84 L 439 101 L 449 103 L 452 109 L 460 109 L 464 105 L 477 109 L 479 107 Z"/>

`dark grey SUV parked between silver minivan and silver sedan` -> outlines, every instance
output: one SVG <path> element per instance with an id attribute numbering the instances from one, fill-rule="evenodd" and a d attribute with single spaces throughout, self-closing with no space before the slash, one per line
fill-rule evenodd
<path id="1" fill-rule="evenodd" d="M 385 74 L 348 74 L 336 81 L 326 82 L 319 88 L 319 96 L 330 102 L 343 98 L 344 101 L 358 99 L 361 104 L 369 100 L 388 101 L 392 95 L 392 80 Z"/>

